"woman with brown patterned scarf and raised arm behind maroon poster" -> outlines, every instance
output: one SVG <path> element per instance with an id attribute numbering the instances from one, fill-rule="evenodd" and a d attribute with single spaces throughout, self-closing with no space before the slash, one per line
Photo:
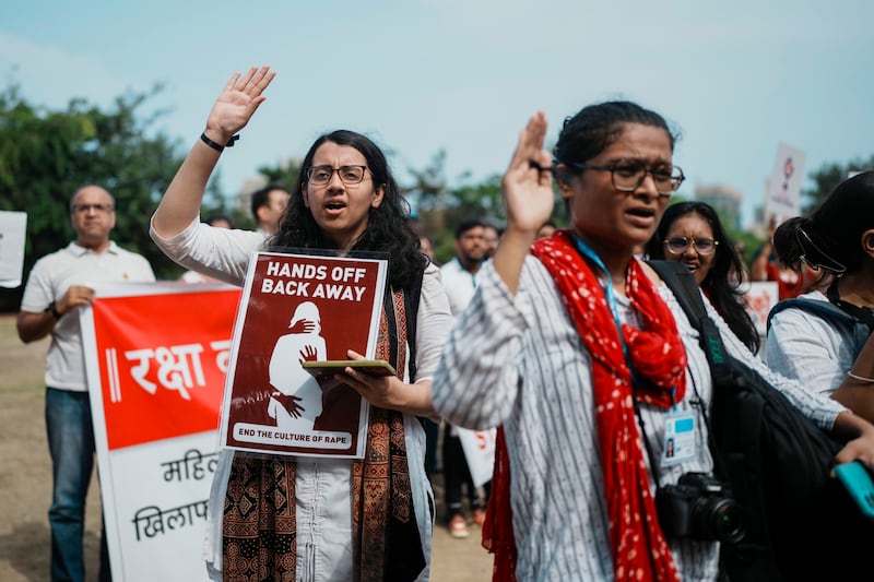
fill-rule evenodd
<path id="1" fill-rule="evenodd" d="M 212 228 L 198 219 L 224 144 L 264 100 L 274 74 L 252 68 L 227 83 L 152 217 L 152 238 L 180 264 L 236 285 L 245 282 L 251 253 L 268 246 L 390 253 L 380 328 L 391 331 L 379 333 L 377 352 L 392 354 L 399 376 L 343 371 L 344 382 L 371 404 L 362 461 L 220 453 L 209 503 L 208 572 L 213 580 L 427 580 L 434 496 L 417 417 L 435 416 L 430 377 L 452 319 L 386 156 L 359 133 L 328 133 L 304 157 L 275 235 Z M 403 325 L 403 292 L 420 284 L 415 320 Z M 413 349 L 411 363 L 405 355 Z"/>

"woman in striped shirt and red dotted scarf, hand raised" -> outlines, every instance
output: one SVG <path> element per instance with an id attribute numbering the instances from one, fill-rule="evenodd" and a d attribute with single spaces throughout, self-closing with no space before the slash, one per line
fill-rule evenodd
<path id="1" fill-rule="evenodd" d="M 504 177 L 505 236 L 434 382 L 449 421 L 503 426 L 484 527 L 494 579 L 714 580 L 719 543 L 669 535 L 654 503 L 657 486 L 712 471 L 697 332 L 634 257 L 683 181 L 674 138 L 627 102 L 568 118 L 552 157 L 545 135 L 538 114 Z M 534 242 L 553 176 L 571 228 Z M 874 460 L 874 426 L 768 371 L 708 310 L 732 355 L 819 426 L 859 437 L 841 460 Z"/>

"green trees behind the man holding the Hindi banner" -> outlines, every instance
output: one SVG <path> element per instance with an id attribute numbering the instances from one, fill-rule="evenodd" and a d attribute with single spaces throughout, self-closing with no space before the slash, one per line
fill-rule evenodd
<path id="1" fill-rule="evenodd" d="M 178 144 L 153 130 L 166 111 L 146 106 L 160 92 L 117 97 L 108 110 L 76 98 L 58 111 L 26 103 L 16 85 L 0 92 L 0 210 L 27 213 L 25 278 L 38 258 L 73 239 L 69 201 L 85 183 L 115 197 L 114 240 L 143 253 L 158 277 L 181 272 L 149 238 L 149 218 L 182 161 Z"/>

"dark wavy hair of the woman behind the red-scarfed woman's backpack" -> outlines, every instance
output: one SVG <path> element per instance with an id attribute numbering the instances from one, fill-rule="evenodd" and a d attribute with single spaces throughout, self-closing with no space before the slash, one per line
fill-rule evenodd
<path id="1" fill-rule="evenodd" d="M 650 259 L 666 259 L 664 253 L 664 240 L 668 231 L 678 218 L 688 214 L 697 214 L 710 225 L 713 230 L 713 239 L 718 241 L 716 257 L 710 271 L 701 282 L 710 302 L 717 312 L 722 316 L 729 329 L 737 336 L 751 352 L 758 352 L 761 340 L 758 336 L 753 319 L 744 308 L 743 292 L 740 289 L 740 282 L 744 280 L 744 263 L 734 241 L 722 228 L 719 215 L 709 204 L 704 202 L 677 202 L 664 210 L 662 219 L 659 223 L 652 238 L 647 241 L 645 252 Z M 670 259 L 669 259 L 670 260 Z"/>

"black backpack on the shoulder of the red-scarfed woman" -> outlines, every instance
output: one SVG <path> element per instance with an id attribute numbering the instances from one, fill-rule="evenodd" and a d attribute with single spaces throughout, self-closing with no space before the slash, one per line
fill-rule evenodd
<path id="1" fill-rule="evenodd" d="M 874 524 L 830 477 L 834 440 L 757 372 L 729 355 L 692 273 L 649 263 L 700 332 L 713 379 L 710 448 L 716 473 L 744 508 L 747 533 L 723 545 L 732 582 L 874 580 Z"/>

